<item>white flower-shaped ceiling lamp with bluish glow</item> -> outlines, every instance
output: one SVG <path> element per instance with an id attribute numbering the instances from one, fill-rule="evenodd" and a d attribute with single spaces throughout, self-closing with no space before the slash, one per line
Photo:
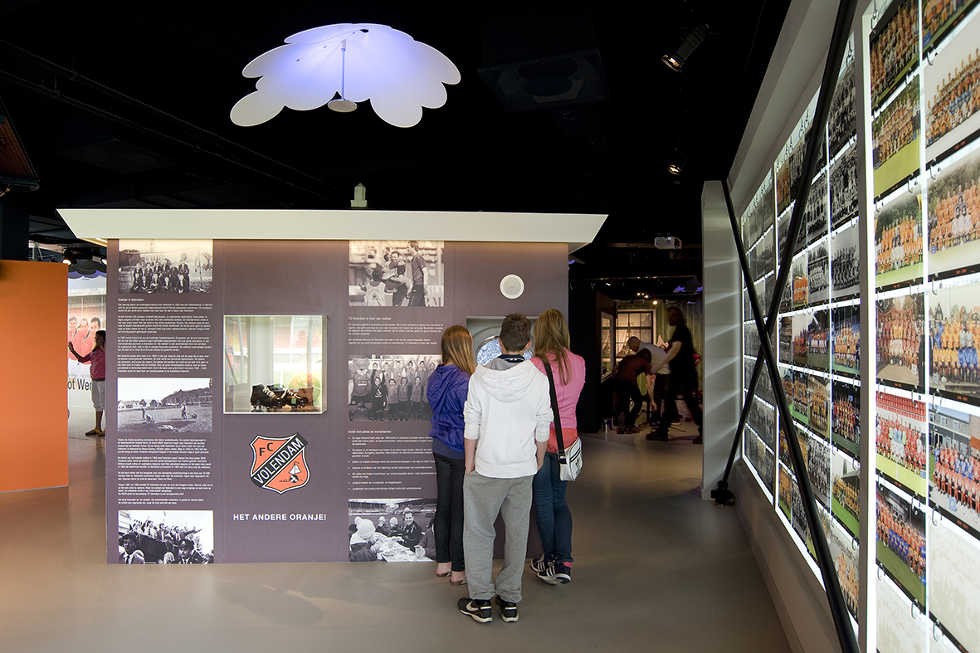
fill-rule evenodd
<path id="1" fill-rule="evenodd" d="M 258 77 L 255 92 L 231 109 L 236 125 L 251 127 L 324 104 L 349 112 L 371 101 L 378 117 L 412 127 L 422 108 L 446 103 L 445 84 L 458 84 L 459 69 L 435 48 L 387 25 L 343 23 L 314 27 L 256 57 L 242 71 Z"/>

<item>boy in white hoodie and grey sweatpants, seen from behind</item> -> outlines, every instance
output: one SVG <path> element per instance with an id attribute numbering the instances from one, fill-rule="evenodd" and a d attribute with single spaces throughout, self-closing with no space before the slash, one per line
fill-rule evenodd
<path id="1" fill-rule="evenodd" d="M 541 468 L 552 420 L 548 379 L 523 352 L 531 322 L 508 315 L 500 325 L 504 352 L 470 377 L 463 406 L 463 554 L 470 595 L 458 608 L 479 623 L 493 620 L 491 599 L 504 621 L 518 620 L 527 557 L 531 481 Z M 492 579 L 494 521 L 504 521 L 504 566 Z"/>

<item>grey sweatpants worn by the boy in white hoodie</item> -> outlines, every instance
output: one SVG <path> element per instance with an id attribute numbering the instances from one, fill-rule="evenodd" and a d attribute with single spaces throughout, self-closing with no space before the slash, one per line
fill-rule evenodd
<path id="1" fill-rule="evenodd" d="M 471 472 L 463 478 L 463 558 L 471 599 L 520 603 L 521 578 L 527 558 L 527 530 L 531 514 L 533 476 L 490 478 Z M 504 566 L 493 582 L 493 523 L 504 520 Z"/>

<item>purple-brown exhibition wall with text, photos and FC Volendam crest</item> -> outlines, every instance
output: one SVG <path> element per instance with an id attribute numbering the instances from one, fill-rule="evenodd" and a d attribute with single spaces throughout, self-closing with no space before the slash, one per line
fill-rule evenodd
<path id="1" fill-rule="evenodd" d="M 567 311 L 564 243 L 108 249 L 107 560 L 122 564 L 431 560 L 442 331 Z"/>

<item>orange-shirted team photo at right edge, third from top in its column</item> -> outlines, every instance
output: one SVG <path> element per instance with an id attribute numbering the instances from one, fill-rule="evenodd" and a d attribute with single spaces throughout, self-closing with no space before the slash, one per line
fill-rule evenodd
<path id="1" fill-rule="evenodd" d="M 929 182 L 929 276 L 980 270 L 980 148 L 936 170 Z"/>

